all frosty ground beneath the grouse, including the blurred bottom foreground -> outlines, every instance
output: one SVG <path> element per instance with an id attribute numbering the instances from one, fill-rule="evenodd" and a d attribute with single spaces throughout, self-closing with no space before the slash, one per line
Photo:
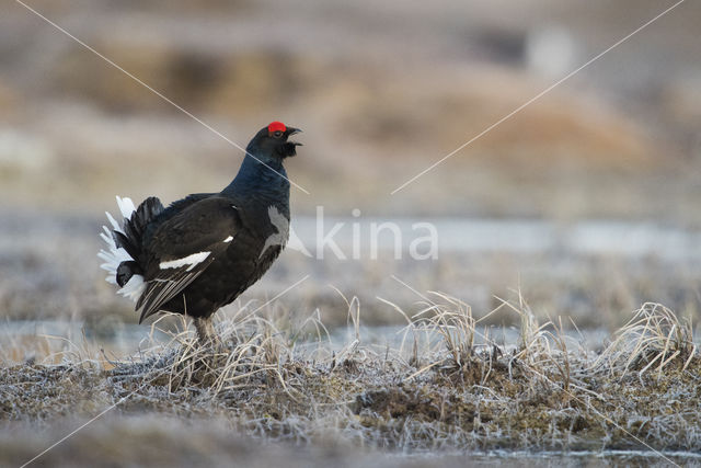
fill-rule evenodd
<path id="1" fill-rule="evenodd" d="M 16 363 L 22 352 L 3 345 L 1 461 L 27 461 L 83 423 L 38 463 L 265 466 L 284 453 L 350 467 L 699 461 L 688 321 L 648 304 L 593 351 L 518 304 L 508 305 L 516 336 L 480 336 L 469 308 L 430 297 L 432 313 L 383 345 L 366 340 L 355 300 L 345 339 L 318 318 L 290 327 L 244 309 L 219 323 L 214 350 L 169 331 L 130 357 L 83 340 L 34 346 Z"/>

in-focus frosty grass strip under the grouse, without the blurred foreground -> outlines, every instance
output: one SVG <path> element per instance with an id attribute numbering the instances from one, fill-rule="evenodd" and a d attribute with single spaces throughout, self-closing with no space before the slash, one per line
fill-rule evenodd
<path id="1" fill-rule="evenodd" d="M 538 323 L 525 301 L 516 343 L 480 335 L 468 305 L 426 296 L 405 312 L 397 349 L 363 342 L 357 300 L 350 338 L 332 347 L 318 317 L 242 308 L 218 323 L 221 344 L 171 332 L 135 356 L 71 353 L 0 368 L 5 430 L 156 414 L 225 421 L 233 433 L 304 446 L 329 444 L 424 450 L 701 449 L 701 359 L 691 323 L 645 304 L 602 352 L 585 349 L 562 323 Z M 185 324 L 185 322 L 183 322 Z M 284 326 L 284 327 L 283 327 Z M 158 327 L 158 323 L 156 323 Z"/>

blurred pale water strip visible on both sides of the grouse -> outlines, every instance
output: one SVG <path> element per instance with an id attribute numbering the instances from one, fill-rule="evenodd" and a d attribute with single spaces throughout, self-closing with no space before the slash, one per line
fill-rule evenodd
<path id="1" fill-rule="evenodd" d="M 94 238 L 96 243 L 102 218 L 85 216 L 59 216 L 45 214 L 19 214 L 0 212 L 0 252 L 37 239 L 60 238 L 70 235 Z M 372 233 L 372 226 L 391 224 L 397 230 L 380 229 Z M 379 250 L 394 248 L 401 241 L 406 251 L 416 238 L 427 236 L 426 228 L 435 227 L 439 252 L 506 252 L 544 253 L 560 252 L 571 255 L 647 255 L 665 260 L 701 259 L 701 230 L 680 226 L 644 221 L 581 220 L 555 222 L 520 218 L 430 218 L 400 217 L 378 218 L 352 216 L 295 216 L 291 227 L 300 242 L 314 254 L 322 238 L 335 227 L 332 239 L 347 258 L 353 258 L 353 243 L 359 246 L 363 258 L 369 254 L 371 244 Z M 45 242 L 37 247 L 46 248 Z M 326 251 L 333 256 L 333 252 Z"/>

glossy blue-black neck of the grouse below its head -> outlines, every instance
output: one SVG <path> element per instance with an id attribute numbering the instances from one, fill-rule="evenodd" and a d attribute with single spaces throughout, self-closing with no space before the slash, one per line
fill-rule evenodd
<path id="1" fill-rule="evenodd" d="M 239 173 L 221 193 L 237 198 L 257 198 L 271 205 L 288 206 L 289 180 L 279 159 L 246 155 Z"/>

